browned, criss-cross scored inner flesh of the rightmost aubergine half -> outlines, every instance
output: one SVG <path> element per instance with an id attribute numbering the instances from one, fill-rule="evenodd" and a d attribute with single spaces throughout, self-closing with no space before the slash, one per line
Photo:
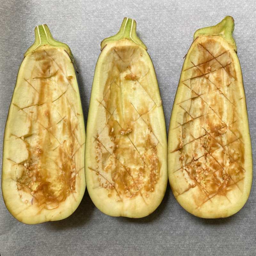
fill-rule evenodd
<path id="1" fill-rule="evenodd" d="M 184 118 L 178 124 L 182 133 L 174 151 L 180 153 L 178 171 L 188 183 L 184 192 L 198 187 L 193 200 L 200 207 L 215 195 L 228 199 L 231 189 L 242 192 L 243 183 L 239 187 L 237 183 L 244 179 L 245 170 L 237 114 L 241 95 L 233 66 L 236 60 L 214 37 L 200 37 L 194 44 L 187 57 L 192 65 L 183 70 L 182 81 L 182 86 L 190 89 L 191 98 L 184 101 L 181 97 L 177 103 Z"/>

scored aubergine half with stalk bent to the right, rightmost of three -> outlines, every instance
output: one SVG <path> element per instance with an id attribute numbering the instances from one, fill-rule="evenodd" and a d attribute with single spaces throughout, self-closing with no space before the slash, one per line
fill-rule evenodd
<path id="1" fill-rule="evenodd" d="M 252 148 L 234 20 L 196 31 L 180 75 L 169 127 L 173 194 L 202 218 L 238 212 L 252 186 Z"/>

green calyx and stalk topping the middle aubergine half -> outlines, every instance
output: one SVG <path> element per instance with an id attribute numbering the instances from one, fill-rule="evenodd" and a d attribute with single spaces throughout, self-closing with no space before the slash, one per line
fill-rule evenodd
<path id="1" fill-rule="evenodd" d="M 135 44 L 143 47 L 145 50 L 148 50 L 147 46 L 140 40 L 140 38 L 136 34 L 136 21 L 130 18 L 124 18 L 121 28 L 115 36 L 110 36 L 101 42 L 100 50 L 102 51 L 102 49 L 108 44 L 108 42 L 118 41 L 124 38 L 129 39 Z"/>

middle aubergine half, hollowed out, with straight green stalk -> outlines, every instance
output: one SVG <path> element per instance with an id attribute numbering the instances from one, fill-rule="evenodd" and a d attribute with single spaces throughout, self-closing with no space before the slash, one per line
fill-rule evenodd
<path id="1" fill-rule="evenodd" d="M 101 43 L 87 122 L 85 179 L 93 203 L 111 216 L 140 218 L 167 185 L 162 101 L 135 20 Z"/>

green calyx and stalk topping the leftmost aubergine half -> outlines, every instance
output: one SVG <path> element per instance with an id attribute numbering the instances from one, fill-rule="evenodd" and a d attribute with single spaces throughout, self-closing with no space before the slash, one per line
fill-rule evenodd
<path id="1" fill-rule="evenodd" d="M 35 42 L 34 42 L 34 44 L 32 44 L 28 48 L 27 52 L 25 52 L 24 57 L 28 53 L 34 52 L 34 51 L 36 51 L 36 49 L 38 49 L 39 47 L 44 46 L 44 45 L 50 45 L 50 46 L 56 47 L 56 48 L 63 48 L 64 51 L 68 53 L 71 61 L 75 65 L 74 56 L 73 56 L 70 48 L 68 47 L 68 45 L 64 44 L 64 43 L 61 43 L 59 41 L 56 41 L 52 37 L 50 29 L 48 28 L 48 26 L 46 24 L 36 26 L 36 28 L 35 28 Z M 76 65 L 75 65 L 75 67 L 76 67 Z"/>

